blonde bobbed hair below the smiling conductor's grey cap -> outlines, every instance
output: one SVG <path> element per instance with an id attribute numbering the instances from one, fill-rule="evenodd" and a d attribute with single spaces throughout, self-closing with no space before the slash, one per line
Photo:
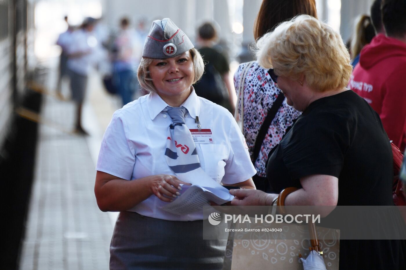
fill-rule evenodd
<path id="1" fill-rule="evenodd" d="M 203 58 L 199 51 L 195 48 L 189 50 L 190 56 L 192 56 L 192 62 L 194 67 L 194 80 L 193 83 L 199 81 L 204 72 Z M 155 86 L 152 83 L 152 79 L 149 76 L 149 65 L 152 63 L 153 58 L 141 58 L 140 65 L 138 66 L 137 76 L 140 86 L 149 92 L 156 92 Z"/>

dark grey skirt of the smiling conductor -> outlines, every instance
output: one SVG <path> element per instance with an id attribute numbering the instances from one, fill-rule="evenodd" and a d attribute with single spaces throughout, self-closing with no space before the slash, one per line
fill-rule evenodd
<path id="1" fill-rule="evenodd" d="M 203 222 L 120 212 L 110 269 L 222 269 L 227 240 L 203 240 Z"/>

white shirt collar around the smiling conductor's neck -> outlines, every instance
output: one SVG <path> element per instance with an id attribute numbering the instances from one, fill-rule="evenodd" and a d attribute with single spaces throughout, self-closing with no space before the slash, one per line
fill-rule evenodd
<path id="1" fill-rule="evenodd" d="M 197 96 L 196 92 L 194 92 L 193 86 L 191 86 L 192 91 L 190 92 L 190 95 L 186 99 L 186 101 L 180 105 L 180 107 L 185 107 L 190 116 L 192 118 L 196 118 L 196 116 L 199 116 L 200 114 L 200 100 L 199 97 Z M 151 92 L 148 96 L 147 99 L 147 109 L 149 111 L 149 116 L 151 117 L 151 120 L 154 120 L 155 117 L 160 114 L 160 112 L 168 106 L 166 102 L 161 99 L 161 97 L 155 93 Z"/>

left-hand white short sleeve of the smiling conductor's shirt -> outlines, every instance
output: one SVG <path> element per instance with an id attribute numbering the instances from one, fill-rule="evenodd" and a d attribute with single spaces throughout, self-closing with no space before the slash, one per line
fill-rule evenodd
<path id="1" fill-rule="evenodd" d="M 135 165 L 135 150 L 128 143 L 128 130 L 120 112 L 113 114 L 104 133 L 96 170 L 131 180 Z"/>

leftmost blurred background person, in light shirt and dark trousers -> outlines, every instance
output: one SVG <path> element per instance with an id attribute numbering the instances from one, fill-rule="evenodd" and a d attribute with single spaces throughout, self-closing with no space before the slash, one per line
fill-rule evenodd
<path id="1" fill-rule="evenodd" d="M 56 44 L 60 46 L 61 52 L 60 52 L 60 57 L 59 57 L 59 73 L 58 73 L 58 81 L 56 84 L 56 95 L 58 96 L 59 99 L 63 99 L 62 95 L 62 80 L 65 77 L 69 77 L 68 73 L 68 67 L 67 67 L 67 62 L 68 62 L 68 48 L 69 44 L 71 43 L 72 40 L 72 32 L 73 32 L 73 26 L 69 25 L 68 22 L 68 16 L 64 17 L 64 20 L 67 24 L 67 30 L 63 33 L 61 33 L 58 36 L 58 40 L 56 41 Z"/>

